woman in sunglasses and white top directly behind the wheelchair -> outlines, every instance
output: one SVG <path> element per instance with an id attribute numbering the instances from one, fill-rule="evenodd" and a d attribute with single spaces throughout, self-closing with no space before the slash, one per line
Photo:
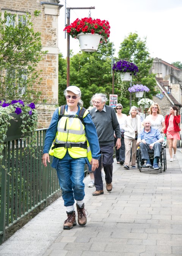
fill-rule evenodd
<path id="1" fill-rule="evenodd" d="M 160 107 L 158 103 L 151 105 L 149 108 L 149 115 L 147 115 L 145 119 L 151 121 L 151 127 L 157 129 L 160 133 L 164 133 L 166 125 L 163 115 L 160 114 Z"/>

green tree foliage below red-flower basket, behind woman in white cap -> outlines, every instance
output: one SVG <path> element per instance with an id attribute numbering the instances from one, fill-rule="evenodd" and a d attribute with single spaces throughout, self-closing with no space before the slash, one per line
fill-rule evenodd
<path id="1" fill-rule="evenodd" d="M 76 85 L 82 91 L 84 107 L 95 93 L 112 93 L 111 76 L 112 44 L 103 42 L 97 52 L 77 53 L 70 58 L 70 85 Z M 65 104 L 63 91 L 66 89 L 66 60 L 59 54 L 59 104 Z"/>

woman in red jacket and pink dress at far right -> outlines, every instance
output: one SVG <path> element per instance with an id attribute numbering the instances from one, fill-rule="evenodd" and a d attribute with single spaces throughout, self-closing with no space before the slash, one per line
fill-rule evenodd
<path id="1" fill-rule="evenodd" d="M 166 133 L 168 145 L 169 145 L 169 154 L 170 154 L 170 162 L 176 160 L 176 149 L 177 149 L 177 140 L 179 137 L 179 123 L 180 123 L 180 115 L 179 110 L 176 106 L 170 107 L 169 115 L 165 117 L 165 125 L 166 129 L 164 133 Z M 174 156 L 173 156 L 174 150 Z"/>

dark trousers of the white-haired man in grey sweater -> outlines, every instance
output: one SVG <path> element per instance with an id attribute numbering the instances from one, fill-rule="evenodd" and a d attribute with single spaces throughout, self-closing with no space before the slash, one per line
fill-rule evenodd
<path id="1" fill-rule="evenodd" d="M 100 146 L 100 154 L 102 154 L 102 159 L 101 158 L 99 159 L 99 167 L 94 171 L 94 184 L 95 184 L 96 190 L 103 190 L 101 163 L 103 163 L 106 183 L 112 182 L 113 162 L 114 162 L 113 153 L 114 153 L 114 144 Z"/>

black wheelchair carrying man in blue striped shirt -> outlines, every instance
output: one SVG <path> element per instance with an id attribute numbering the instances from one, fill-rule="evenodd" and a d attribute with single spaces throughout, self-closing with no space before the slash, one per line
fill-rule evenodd
<path id="1" fill-rule="evenodd" d="M 153 161 L 154 161 L 154 151 L 153 150 L 149 150 L 148 151 L 149 154 L 149 159 L 151 161 L 151 165 L 153 166 Z M 137 154 L 137 166 L 138 166 L 138 170 L 141 172 L 141 168 L 150 168 L 150 169 L 154 169 L 153 167 L 146 167 L 145 163 L 143 161 L 143 159 L 141 159 L 141 150 L 140 147 L 138 147 L 138 154 Z M 161 147 L 161 152 L 160 152 L 160 157 L 158 158 L 158 167 L 160 170 L 160 173 L 162 173 L 162 170 L 165 171 L 166 170 L 166 149 L 165 147 Z"/>

